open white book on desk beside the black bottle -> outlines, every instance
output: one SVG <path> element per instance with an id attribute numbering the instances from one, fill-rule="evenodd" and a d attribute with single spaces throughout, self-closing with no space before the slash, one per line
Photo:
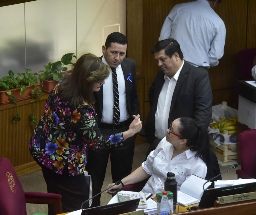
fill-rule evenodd
<path id="1" fill-rule="evenodd" d="M 203 184 L 207 182 L 198 176 L 191 175 L 181 185 L 180 191 L 178 191 L 178 203 L 182 206 L 191 205 L 200 202 L 203 194 Z M 208 188 L 211 182 L 204 185 L 204 188 Z"/>

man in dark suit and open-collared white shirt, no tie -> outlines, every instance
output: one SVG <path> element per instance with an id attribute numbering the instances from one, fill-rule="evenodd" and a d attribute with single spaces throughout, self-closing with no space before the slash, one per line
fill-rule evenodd
<path id="1" fill-rule="evenodd" d="M 207 129 L 212 111 L 208 73 L 183 59 L 175 39 L 159 41 L 152 53 L 160 70 L 148 93 L 150 112 L 145 129 L 148 142 L 153 142 L 148 154 L 165 137 L 172 121 L 179 117 L 192 117 Z"/>

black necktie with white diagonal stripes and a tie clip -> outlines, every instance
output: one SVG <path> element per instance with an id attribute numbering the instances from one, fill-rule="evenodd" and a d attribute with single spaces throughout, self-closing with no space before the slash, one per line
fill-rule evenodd
<path id="1" fill-rule="evenodd" d="M 118 82 L 117 82 L 116 68 L 111 68 L 111 69 L 112 69 L 113 98 L 114 98 L 113 122 L 114 124 L 118 124 L 120 120 Z"/>

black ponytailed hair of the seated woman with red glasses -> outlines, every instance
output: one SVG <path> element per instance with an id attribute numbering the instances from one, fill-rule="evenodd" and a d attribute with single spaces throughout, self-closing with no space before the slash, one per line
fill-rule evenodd
<path id="1" fill-rule="evenodd" d="M 179 134 L 187 139 L 186 145 L 191 151 L 196 151 L 195 157 L 200 157 L 206 164 L 209 163 L 209 136 L 197 122 L 190 117 L 179 118 Z"/>

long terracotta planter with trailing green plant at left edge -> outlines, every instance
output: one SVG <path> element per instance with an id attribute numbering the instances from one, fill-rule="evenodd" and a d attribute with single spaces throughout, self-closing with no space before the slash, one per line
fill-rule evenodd
<path id="1" fill-rule="evenodd" d="M 38 74 L 31 73 L 30 69 L 26 69 L 25 73 L 17 74 L 9 70 L 8 75 L 0 79 L 0 104 L 10 102 L 17 104 L 17 101 L 30 97 L 36 97 L 35 100 L 32 100 L 32 103 L 38 100 L 42 91 L 37 80 Z M 20 121 L 18 106 L 16 106 L 16 114 L 11 121 Z"/>

